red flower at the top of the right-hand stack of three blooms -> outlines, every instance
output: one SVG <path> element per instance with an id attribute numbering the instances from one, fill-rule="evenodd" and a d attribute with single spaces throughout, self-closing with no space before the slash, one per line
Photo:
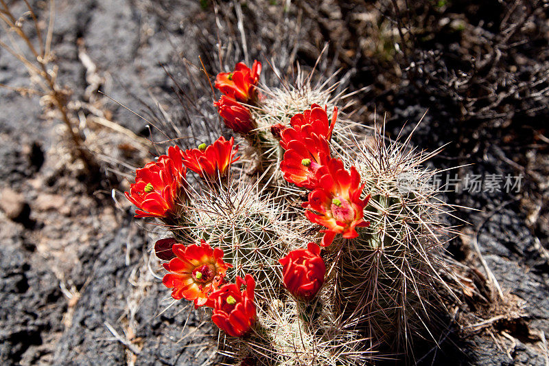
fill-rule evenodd
<path id="1" fill-rule="evenodd" d="M 334 130 L 334 126 L 336 126 L 337 119 L 338 107 L 334 107 L 334 113 L 331 115 L 330 123 L 328 120 L 327 106 L 320 108 L 318 104 L 312 104 L 311 109 L 294 115 L 294 117 L 290 119 L 290 125 L 298 133 L 305 128 L 305 126 L 309 125 L 310 128 L 307 128 L 306 135 L 314 133 L 318 136 L 323 136 L 327 141 L 330 141 L 331 133 Z M 303 135 L 303 133 L 301 134 Z M 286 137 L 285 139 L 290 140 L 292 138 Z"/>

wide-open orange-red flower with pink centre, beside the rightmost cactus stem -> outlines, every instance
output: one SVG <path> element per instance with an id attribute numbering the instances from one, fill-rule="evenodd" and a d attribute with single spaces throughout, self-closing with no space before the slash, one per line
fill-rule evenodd
<path id="1" fill-rule="evenodd" d="M 318 188 L 309 193 L 309 201 L 303 207 L 309 209 L 305 212 L 309 220 L 327 227 L 321 231 L 325 233 L 321 245 L 327 247 L 338 233 L 343 238 L 356 238 L 355 227 L 370 225 L 364 221 L 363 213 L 370 196 L 360 199 L 364 185 L 360 185 L 355 167 L 351 167 L 349 174 L 342 161 L 332 158 L 318 169 L 316 176 Z"/>

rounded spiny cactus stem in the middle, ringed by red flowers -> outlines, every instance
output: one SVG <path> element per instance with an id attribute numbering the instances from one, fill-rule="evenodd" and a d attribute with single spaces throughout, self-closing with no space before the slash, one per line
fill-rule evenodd
<path id="1" fill-rule="evenodd" d="M 224 251 L 233 277 L 249 273 L 257 289 L 279 288 L 277 259 L 285 249 L 280 207 L 257 184 L 224 189 L 198 198 L 195 205 L 201 209 L 191 218 L 194 236 Z"/>

